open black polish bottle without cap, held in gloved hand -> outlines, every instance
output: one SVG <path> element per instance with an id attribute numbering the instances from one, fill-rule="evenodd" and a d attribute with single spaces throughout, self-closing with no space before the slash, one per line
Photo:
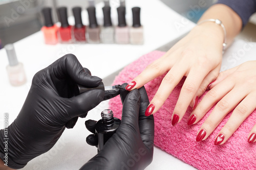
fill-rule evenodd
<path id="1" fill-rule="evenodd" d="M 98 151 L 101 151 L 106 141 L 116 132 L 121 120 L 113 117 L 110 109 L 101 112 L 101 119 L 95 125 L 95 132 L 98 135 Z"/>

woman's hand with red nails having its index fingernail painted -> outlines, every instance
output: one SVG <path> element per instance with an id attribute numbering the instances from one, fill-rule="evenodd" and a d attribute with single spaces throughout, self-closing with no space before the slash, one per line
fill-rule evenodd
<path id="1" fill-rule="evenodd" d="M 140 88 L 167 72 L 145 115 L 160 109 L 183 76 L 187 78 L 173 112 L 172 125 L 181 120 L 189 105 L 196 108 L 198 97 L 219 74 L 223 37 L 223 30 L 216 23 L 202 23 L 127 85 L 127 90 Z"/>

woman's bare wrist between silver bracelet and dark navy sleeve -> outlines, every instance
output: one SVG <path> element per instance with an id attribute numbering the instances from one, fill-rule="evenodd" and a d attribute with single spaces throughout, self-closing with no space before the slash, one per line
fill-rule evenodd
<path id="1" fill-rule="evenodd" d="M 240 16 L 223 4 L 216 4 L 210 7 L 205 11 L 199 22 L 205 19 L 220 19 L 222 21 L 227 32 L 227 44 L 230 44 L 242 29 L 242 19 Z M 222 28 L 216 25 L 214 29 Z"/>

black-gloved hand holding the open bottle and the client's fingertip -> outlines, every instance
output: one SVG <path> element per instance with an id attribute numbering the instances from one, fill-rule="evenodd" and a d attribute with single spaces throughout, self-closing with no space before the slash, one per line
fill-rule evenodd
<path id="1" fill-rule="evenodd" d="M 120 97 L 123 109 L 119 128 L 104 148 L 81 169 L 144 169 L 152 162 L 154 117 L 145 116 L 149 104 L 146 90 L 144 87 L 131 92 L 120 89 Z M 94 120 L 86 122 L 92 133 L 95 133 L 95 123 Z M 97 136 L 90 135 L 87 142 L 96 145 Z"/>

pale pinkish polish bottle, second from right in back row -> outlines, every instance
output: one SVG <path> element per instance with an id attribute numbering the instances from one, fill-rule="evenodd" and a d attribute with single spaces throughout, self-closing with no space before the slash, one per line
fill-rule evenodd
<path id="1" fill-rule="evenodd" d="M 118 44 L 128 44 L 129 39 L 129 27 L 126 25 L 125 20 L 125 7 L 117 8 L 118 14 L 118 26 L 116 27 L 115 40 Z"/>

